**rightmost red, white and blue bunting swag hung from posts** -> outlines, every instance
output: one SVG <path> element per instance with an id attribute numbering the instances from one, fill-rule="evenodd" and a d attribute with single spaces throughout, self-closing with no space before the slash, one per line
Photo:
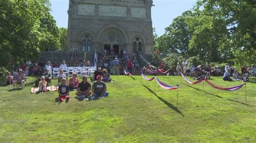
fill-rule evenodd
<path id="1" fill-rule="evenodd" d="M 217 86 L 217 85 L 214 85 L 213 83 L 211 83 L 210 81 L 208 81 L 208 80 L 205 79 L 205 78 L 200 78 L 200 80 L 198 80 L 198 81 L 196 81 L 196 82 L 191 82 L 191 81 L 189 81 L 189 80 L 187 79 L 187 77 L 186 77 L 183 73 L 181 73 L 181 76 L 182 76 L 183 79 L 184 79 L 187 83 L 189 83 L 189 84 L 198 84 L 198 83 L 200 83 L 200 82 L 202 82 L 202 81 L 205 81 L 205 82 L 207 82 L 208 84 L 210 84 L 210 85 L 211 85 L 213 88 L 215 88 L 215 89 L 226 90 L 226 91 L 235 91 L 235 90 L 238 90 L 238 89 L 242 88 L 242 86 L 245 85 L 245 98 L 246 98 L 246 104 L 247 104 L 246 83 L 242 83 L 242 84 L 236 85 L 236 86 L 234 86 L 234 87 L 223 88 L 223 87 L 219 87 L 219 86 Z"/>

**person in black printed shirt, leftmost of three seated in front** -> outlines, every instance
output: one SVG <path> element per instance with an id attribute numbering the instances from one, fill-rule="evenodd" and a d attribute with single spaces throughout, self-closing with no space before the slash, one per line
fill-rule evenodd
<path id="1" fill-rule="evenodd" d="M 66 84 L 66 78 L 62 78 L 62 80 L 60 81 L 58 94 L 60 102 L 63 102 L 63 98 L 65 98 L 66 103 L 69 102 L 69 85 Z"/>

